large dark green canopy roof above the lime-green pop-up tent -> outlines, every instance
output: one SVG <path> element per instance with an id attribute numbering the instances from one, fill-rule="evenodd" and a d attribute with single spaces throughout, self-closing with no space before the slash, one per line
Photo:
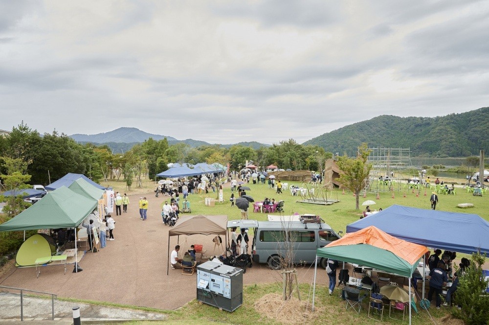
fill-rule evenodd
<path id="1" fill-rule="evenodd" d="M 88 199 L 65 186 L 48 192 L 38 203 L 0 225 L 0 232 L 75 228 L 96 207 L 97 200 Z"/>

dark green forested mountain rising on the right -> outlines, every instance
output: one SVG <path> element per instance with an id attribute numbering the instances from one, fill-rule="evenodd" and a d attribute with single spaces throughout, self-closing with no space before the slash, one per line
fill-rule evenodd
<path id="1" fill-rule="evenodd" d="M 304 142 L 329 152 L 354 155 L 369 147 L 411 148 L 411 156 L 466 157 L 489 152 L 489 107 L 437 117 L 382 115 Z"/>

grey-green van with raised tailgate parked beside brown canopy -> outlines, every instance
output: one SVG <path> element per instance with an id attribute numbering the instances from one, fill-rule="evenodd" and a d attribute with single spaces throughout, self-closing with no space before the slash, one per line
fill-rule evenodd
<path id="1" fill-rule="evenodd" d="M 288 247 L 293 249 L 294 264 L 310 264 L 314 262 L 316 249 L 340 238 L 323 222 L 233 220 L 228 222 L 228 228 L 231 227 L 254 228 L 252 259 L 256 263 L 267 263 L 273 270 L 280 269 Z M 326 268 L 326 258 L 318 262 L 322 268 Z"/>

